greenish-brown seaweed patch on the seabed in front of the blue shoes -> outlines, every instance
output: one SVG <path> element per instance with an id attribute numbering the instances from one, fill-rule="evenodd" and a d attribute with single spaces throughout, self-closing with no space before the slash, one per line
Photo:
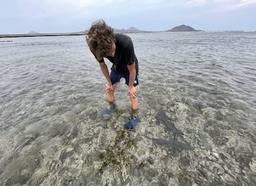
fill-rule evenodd
<path id="1" fill-rule="evenodd" d="M 102 161 L 98 173 L 102 174 L 108 166 L 121 169 L 121 167 L 130 165 L 130 161 L 134 157 L 132 149 L 136 147 L 132 137 L 132 133 L 128 130 L 116 131 L 114 145 L 109 145 L 106 151 L 98 155 L 98 159 Z"/>

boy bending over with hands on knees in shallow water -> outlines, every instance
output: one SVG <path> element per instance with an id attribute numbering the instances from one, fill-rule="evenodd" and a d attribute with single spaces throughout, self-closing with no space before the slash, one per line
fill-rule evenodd
<path id="1" fill-rule="evenodd" d="M 106 92 L 109 107 L 102 111 L 102 115 L 114 111 L 114 91 L 120 78 L 125 78 L 132 106 L 131 120 L 125 126 L 128 129 L 133 129 L 138 124 L 137 89 L 139 82 L 138 60 L 134 53 L 132 39 L 127 35 L 114 34 L 114 30 L 101 19 L 92 23 L 86 33 L 86 42 L 98 60 L 102 74 L 107 81 Z M 108 58 L 112 62 L 110 74 L 104 58 Z"/>

